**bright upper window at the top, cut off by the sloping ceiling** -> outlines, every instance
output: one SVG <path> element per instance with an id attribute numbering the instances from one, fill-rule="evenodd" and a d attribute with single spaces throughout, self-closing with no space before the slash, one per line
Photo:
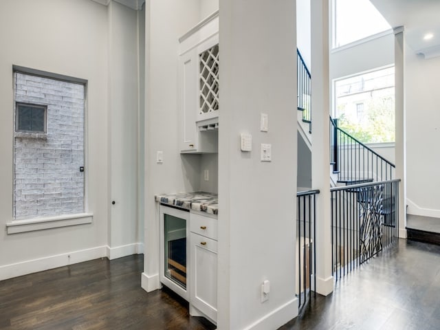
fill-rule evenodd
<path id="1" fill-rule="evenodd" d="M 333 48 L 391 29 L 369 0 L 333 0 L 333 3 Z"/>

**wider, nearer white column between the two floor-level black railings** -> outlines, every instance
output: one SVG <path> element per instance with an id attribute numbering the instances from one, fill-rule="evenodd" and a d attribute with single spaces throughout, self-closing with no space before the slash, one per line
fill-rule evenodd
<path id="1" fill-rule="evenodd" d="M 316 292 L 333 292 L 329 151 L 329 0 L 311 1 L 312 188 L 316 200 Z"/>

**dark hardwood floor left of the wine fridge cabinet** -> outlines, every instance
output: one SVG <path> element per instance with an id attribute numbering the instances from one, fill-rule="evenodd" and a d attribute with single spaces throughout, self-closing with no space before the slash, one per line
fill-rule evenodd
<path id="1" fill-rule="evenodd" d="M 0 329 L 215 329 L 172 292 L 140 287 L 143 255 L 0 281 Z"/>

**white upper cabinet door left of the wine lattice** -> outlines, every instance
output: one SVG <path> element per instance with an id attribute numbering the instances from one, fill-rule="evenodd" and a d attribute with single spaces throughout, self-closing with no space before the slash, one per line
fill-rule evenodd
<path id="1" fill-rule="evenodd" d="M 197 54 L 190 50 L 179 56 L 179 125 L 182 152 L 197 151 Z"/>

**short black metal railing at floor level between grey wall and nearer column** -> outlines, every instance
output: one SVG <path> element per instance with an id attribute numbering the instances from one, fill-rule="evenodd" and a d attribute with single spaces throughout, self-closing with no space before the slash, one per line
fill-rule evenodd
<path id="1" fill-rule="evenodd" d="M 319 190 L 307 190 L 296 195 L 296 296 L 301 310 L 316 288 L 316 195 Z M 314 278 L 312 283 L 312 276 Z"/>

